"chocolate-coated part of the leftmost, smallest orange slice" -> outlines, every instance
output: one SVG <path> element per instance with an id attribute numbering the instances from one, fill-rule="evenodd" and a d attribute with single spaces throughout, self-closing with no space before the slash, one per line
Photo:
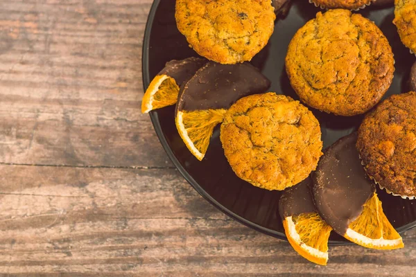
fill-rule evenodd
<path id="1" fill-rule="evenodd" d="M 201 57 L 188 57 L 184 60 L 171 60 L 166 62 L 162 71 L 157 75 L 168 75 L 175 79 L 176 84 L 180 87 L 184 82 L 189 80 L 195 73 L 208 61 Z"/>

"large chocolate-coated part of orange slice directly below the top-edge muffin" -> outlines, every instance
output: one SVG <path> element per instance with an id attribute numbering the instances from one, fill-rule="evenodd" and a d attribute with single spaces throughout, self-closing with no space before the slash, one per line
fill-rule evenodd
<path id="1" fill-rule="evenodd" d="M 270 80 L 249 63 L 208 62 L 182 85 L 176 109 L 228 109 L 236 100 L 264 93 L 269 87 Z"/>

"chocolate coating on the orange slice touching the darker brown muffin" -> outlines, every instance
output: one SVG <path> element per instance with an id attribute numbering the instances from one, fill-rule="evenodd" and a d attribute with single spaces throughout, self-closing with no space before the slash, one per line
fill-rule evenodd
<path id="1" fill-rule="evenodd" d="M 356 150 L 357 133 L 331 145 L 312 175 L 312 194 L 321 217 L 336 233 L 345 235 L 375 191 Z"/>

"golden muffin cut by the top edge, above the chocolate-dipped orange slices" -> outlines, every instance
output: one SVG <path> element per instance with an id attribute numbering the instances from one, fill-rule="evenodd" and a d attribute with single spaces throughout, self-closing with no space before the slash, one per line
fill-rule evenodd
<path id="1" fill-rule="evenodd" d="M 250 61 L 275 28 L 270 0 L 177 0 L 176 23 L 190 46 L 214 62 Z"/>

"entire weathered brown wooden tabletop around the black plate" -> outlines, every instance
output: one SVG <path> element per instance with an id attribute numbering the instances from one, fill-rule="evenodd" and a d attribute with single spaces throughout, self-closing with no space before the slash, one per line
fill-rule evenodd
<path id="1" fill-rule="evenodd" d="M 140 113 L 151 3 L 0 0 L 0 276 L 416 275 L 416 231 L 319 267 L 184 181 Z"/>

